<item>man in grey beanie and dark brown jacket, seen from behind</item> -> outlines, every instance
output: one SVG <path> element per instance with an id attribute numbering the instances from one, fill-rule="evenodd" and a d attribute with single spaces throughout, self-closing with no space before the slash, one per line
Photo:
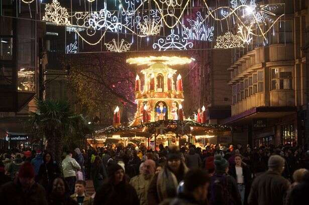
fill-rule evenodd
<path id="1" fill-rule="evenodd" d="M 253 180 L 248 197 L 249 205 L 284 204 L 290 185 L 289 181 L 281 176 L 284 164 L 285 159 L 279 155 L 269 157 L 268 170 Z"/>

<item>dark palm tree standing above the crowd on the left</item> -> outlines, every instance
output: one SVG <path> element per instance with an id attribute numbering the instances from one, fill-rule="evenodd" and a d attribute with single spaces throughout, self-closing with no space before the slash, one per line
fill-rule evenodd
<path id="1" fill-rule="evenodd" d="M 36 100 L 37 111 L 31 112 L 30 123 L 41 138 L 47 140 L 46 150 L 60 163 L 63 143 L 74 140 L 72 136 L 84 137 L 85 120 L 70 110 L 68 102 L 63 100 Z"/>

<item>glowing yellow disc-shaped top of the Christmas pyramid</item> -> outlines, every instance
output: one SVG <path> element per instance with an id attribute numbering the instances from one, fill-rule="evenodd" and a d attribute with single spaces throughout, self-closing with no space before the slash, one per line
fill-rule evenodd
<path id="1" fill-rule="evenodd" d="M 178 57 L 178 56 L 148 56 L 148 57 L 137 57 L 127 59 L 129 64 L 140 65 L 152 65 L 155 63 L 163 63 L 165 65 L 184 65 L 192 62 L 192 59 L 187 57 Z"/>

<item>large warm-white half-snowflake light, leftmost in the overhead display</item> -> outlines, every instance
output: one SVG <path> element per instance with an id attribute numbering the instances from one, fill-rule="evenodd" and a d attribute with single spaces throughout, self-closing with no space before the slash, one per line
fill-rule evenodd
<path id="1" fill-rule="evenodd" d="M 46 4 L 43 21 L 52 22 L 57 25 L 70 26 L 71 23 L 68 18 L 69 14 L 66 8 L 61 7 L 57 0 L 53 0 L 52 4 Z"/>

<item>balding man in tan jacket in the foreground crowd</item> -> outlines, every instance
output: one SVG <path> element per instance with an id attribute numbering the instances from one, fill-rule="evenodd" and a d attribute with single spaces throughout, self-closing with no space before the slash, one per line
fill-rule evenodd
<path id="1" fill-rule="evenodd" d="M 147 159 L 141 163 L 140 174 L 134 176 L 130 180 L 130 184 L 135 188 L 137 195 L 140 199 L 141 205 L 147 205 L 147 192 L 151 178 L 156 170 L 156 162 L 152 159 Z"/>

